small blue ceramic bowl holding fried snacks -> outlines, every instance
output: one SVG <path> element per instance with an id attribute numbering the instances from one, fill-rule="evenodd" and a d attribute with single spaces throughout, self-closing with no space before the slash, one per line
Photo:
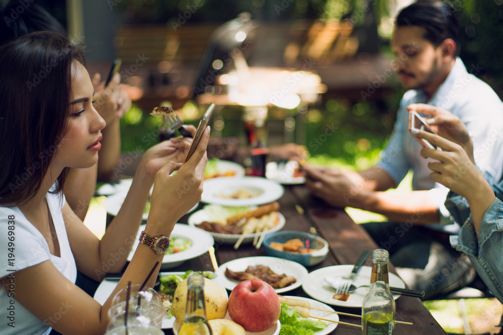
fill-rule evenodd
<path id="1" fill-rule="evenodd" d="M 271 242 L 285 243 L 289 240 L 299 239 L 304 245 L 305 241 L 309 241 L 311 249 L 317 249 L 311 253 L 292 253 L 288 251 L 279 251 L 271 248 Z M 264 250 L 267 256 L 285 258 L 290 261 L 300 263 L 304 266 L 313 266 L 321 263 L 328 254 L 328 242 L 326 240 L 309 233 L 295 231 L 281 231 L 268 234 L 263 242 Z"/>

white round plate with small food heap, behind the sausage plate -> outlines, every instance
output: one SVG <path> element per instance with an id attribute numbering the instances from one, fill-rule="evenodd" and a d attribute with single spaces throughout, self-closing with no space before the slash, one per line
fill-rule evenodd
<path id="1" fill-rule="evenodd" d="M 211 178 L 203 184 L 201 201 L 217 203 L 224 206 L 262 205 L 283 196 L 285 189 L 276 181 L 262 177 L 219 177 Z M 244 199 L 230 199 L 221 195 L 231 195 L 245 189 L 254 197 Z"/>

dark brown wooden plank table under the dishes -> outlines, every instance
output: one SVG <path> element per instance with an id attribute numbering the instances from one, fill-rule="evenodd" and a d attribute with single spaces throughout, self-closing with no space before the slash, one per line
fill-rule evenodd
<path id="1" fill-rule="evenodd" d="M 377 245 L 366 231 L 356 225 L 344 210 L 324 206 L 320 200 L 313 198 L 303 185 L 285 186 L 285 194 L 278 201 L 281 204 L 280 212 L 286 218 L 284 230 L 309 232 L 314 228 L 316 233 L 329 243 L 330 252 L 327 258 L 321 264 L 308 267 L 309 272 L 326 266 L 354 264 L 363 250 L 377 249 Z M 304 209 L 304 214 L 298 212 L 296 205 L 300 205 Z M 180 222 L 187 222 L 188 216 L 182 217 Z M 232 245 L 216 243 L 215 252 L 218 264 L 242 257 L 265 255 L 263 248 L 256 250 L 251 244 L 241 245 L 238 250 L 234 250 Z M 370 258 L 367 262 L 367 265 L 371 264 Z M 208 253 L 187 261 L 180 267 L 170 271 L 189 269 L 213 271 Z M 390 265 L 390 271 L 396 274 L 392 265 Z M 301 287 L 288 292 L 288 295 L 309 297 Z M 333 308 L 337 311 L 361 314 L 361 308 L 339 306 L 333 306 Z M 418 298 L 399 297 L 396 300 L 395 314 L 395 320 L 413 322 L 413 325 L 395 324 L 395 334 L 446 334 Z M 351 316 L 340 315 L 340 320 L 349 323 L 361 323 L 360 318 Z M 173 333 L 171 329 L 165 329 L 164 331 L 166 334 Z M 356 335 L 361 334 L 361 328 L 340 324 L 331 333 Z"/>

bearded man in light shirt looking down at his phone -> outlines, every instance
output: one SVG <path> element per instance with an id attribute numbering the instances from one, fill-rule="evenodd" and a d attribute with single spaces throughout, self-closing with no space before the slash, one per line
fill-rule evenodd
<path id="1" fill-rule="evenodd" d="M 365 224 L 378 246 L 387 249 L 404 281 L 426 291 L 426 298 L 468 284 L 474 271 L 466 257 L 449 245 L 457 234 L 444 206 L 448 189 L 430 179 L 421 145 L 408 132 L 407 106 L 428 103 L 448 109 L 467 126 L 475 161 L 497 182 L 502 173 L 503 103 L 475 77 L 478 64 L 465 66 L 459 53 L 459 26 L 445 2 L 420 2 L 396 19 L 391 48 L 405 89 L 393 133 L 378 164 L 364 171 L 306 167 L 311 192 L 338 207 L 356 207 L 386 215 L 392 222 Z M 395 188 L 412 169 L 412 191 Z M 462 224 L 462 222 L 461 222 Z"/>

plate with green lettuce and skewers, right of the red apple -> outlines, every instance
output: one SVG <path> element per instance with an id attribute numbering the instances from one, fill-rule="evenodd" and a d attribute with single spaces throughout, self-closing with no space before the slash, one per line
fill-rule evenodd
<path id="1" fill-rule="evenodd" d="M 335 312 L 332 307 L 317 300 L 304 297 L 281 295 L 279 297 L 282 304 L 285 303 L 288 307 L 295 308 L 297 312 L 299 312 L 301 318 L 305 317 L 310 320 L 310 322 L 303 322 L 306 320 L 299 321 L 297 318 L 280 316 L 282 326 L 289 325 L 291 327 L 291 330 L 296 330 L 296 328 L 303 328 L 314 331 L 321 328 L 320 330 L 314 332 L 313 335 L 326 335 L 336 329 L 337 323 L 335 322 L 339 321 L 339 315 L 336 313 L 331 313 Z M 283 306 L 281 312 L 284 313 Z M 310 315 L 334 322 L 322 321 Z"/>

